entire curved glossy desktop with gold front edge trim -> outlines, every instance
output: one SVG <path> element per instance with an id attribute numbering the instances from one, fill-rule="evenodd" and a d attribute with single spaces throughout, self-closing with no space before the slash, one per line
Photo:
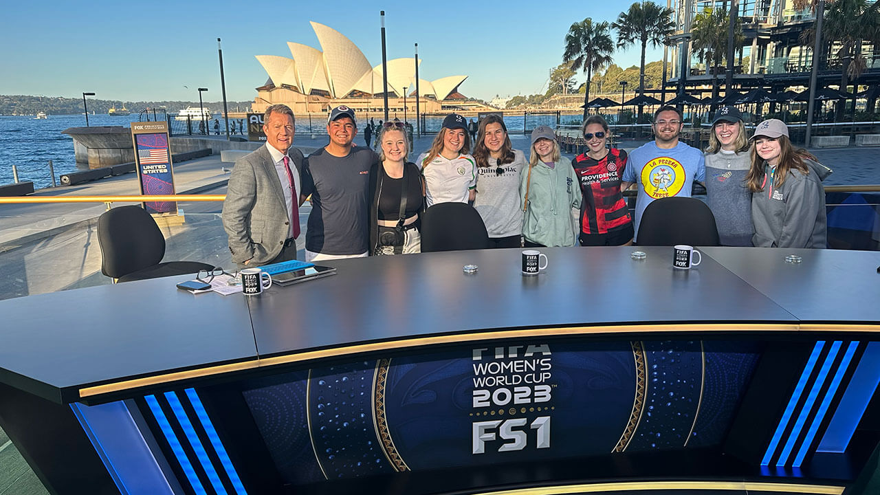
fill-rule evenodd
<path id="1" fill-rule="evenodd" d="M 519 249 L 504 249 L 326 262 L 339 274 L 250 300 L 194 296 L 174 288 L 177 277 L 0 301 L 0 380 L 71 402 L 438 336 L 880 321 L 880 253 L 804 250 L 793 266 L 782 261 L 788 250 L 706 248 L 688 272 L 671 268 L 671 247 L 642 247 L 642 261 L 630 258 L 636 249 L 542 249 L 549 268 L 537 277 L 520 274 Z M 479 272 L 465 275 L 467 263 Z"/>

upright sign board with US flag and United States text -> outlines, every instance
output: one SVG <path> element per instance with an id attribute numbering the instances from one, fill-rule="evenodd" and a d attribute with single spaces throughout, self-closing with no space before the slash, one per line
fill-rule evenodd
<path id="1" fill-rule="evenodd" d="M 135 146 L 137 179 L 142 195 L 174 194 L 174 174 L 168 140 L 168 122 L 131 122 L 131 140 Z M 150 213 L 176 213 L 177 203 L 143 203 Z"/>

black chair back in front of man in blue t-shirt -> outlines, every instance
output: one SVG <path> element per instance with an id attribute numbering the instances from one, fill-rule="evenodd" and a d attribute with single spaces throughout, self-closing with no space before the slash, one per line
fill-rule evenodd
<path id="1" fill-rule="evenodd" d="M 639 246 L 721 246 L 715 215 L 694 197 L 656 199 L 642 212 Z"/>

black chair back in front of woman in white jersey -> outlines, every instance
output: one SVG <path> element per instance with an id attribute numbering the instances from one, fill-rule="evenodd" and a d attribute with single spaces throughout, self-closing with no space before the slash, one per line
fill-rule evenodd
<path id="1" fill-rule="evenodd" d="M 422 216 L 422 253 L 487 247 L 486 225 L 469 204 L 437 203 Z"/>

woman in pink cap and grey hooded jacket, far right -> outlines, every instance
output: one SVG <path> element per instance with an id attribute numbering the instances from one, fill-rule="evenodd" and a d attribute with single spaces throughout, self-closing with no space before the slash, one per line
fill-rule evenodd
<path id="1" fill-rule="evenodd" d="M 754 245 L 826 247 L 822 181 L 831 169 L 792 147 L 788 127 L 778 119 L 759 123 L 752 140 L 752 168 L 745 181 L 752 191 Z"/>

